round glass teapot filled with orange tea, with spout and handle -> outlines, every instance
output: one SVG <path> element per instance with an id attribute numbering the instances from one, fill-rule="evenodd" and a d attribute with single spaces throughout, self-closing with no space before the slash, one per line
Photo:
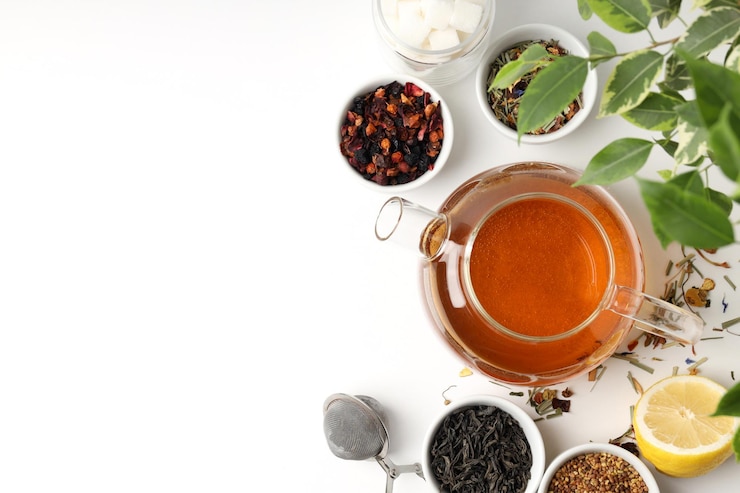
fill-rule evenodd
<path id="1" fill-rule="evenodd" d="M 636 326 L 694 344 L 704 322 L 643 292 L 639 239 L 624 210 L 578 171 L 541 162 L 483 172 L 438 212 L 389 199 L 380 240 L 418 249 L 431 318 L 495 380 L 548 385 L 608 358 Z"/>

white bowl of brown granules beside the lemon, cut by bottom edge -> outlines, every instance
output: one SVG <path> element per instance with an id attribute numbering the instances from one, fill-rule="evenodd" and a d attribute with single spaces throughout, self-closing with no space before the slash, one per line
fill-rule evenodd
<path id="1" fill-rule="evenodd" d="M 659 493 L 659 488 L 650 469 L 631 451 L 611 443 L 587 443 L 555 457 L 537 493 L 571 491 Z"/>

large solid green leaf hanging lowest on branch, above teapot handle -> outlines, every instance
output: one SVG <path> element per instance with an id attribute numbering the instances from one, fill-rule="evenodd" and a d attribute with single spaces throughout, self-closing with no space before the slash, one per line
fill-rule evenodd
<path id="1" fill-rule="evenodd" d="M 735 241 L 729 217 L 711 200 L 670 183 L 637 181 L 653 230 L 664 248 L 671 241 L 700 249 L 719 248 Z"/>

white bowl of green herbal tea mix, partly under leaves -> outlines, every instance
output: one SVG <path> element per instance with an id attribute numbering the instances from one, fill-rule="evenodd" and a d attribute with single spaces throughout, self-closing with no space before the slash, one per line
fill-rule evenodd
<path id="1" fill-rule="evenodd" d="M 495 39 L 478 66 L 476 98 L 486 119 L 507 137 L 524 144 L 543 144 L 572 133 L 596 104 L 596 71 L 588 67 L 586 46 L 573 34 L 548 24 L 526 24 Z M 519 105 L 526 97 L 537 108 L 545 108 L 551 91 L 559 90 L 565 77 L 585 75 L 583 90 L 560 114 L 546 122 L 536 116 L 520 119 Z M 541 76 L 539 84 L 533 81 Z M 532 89 L 527 91 L 530 84 Z M 555 108 L 557 111 L 558 108 Z M 521 127 L 521 128 L 520 128 Z"/>

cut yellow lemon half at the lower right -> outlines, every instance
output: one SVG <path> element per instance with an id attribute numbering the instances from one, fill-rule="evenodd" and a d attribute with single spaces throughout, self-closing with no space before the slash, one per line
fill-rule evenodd
<path id="1" fill-rule="evenodd" d="M 711 416 L 726 389 L 705 377 L 656 382 L 635 405 L 633 426 L 642 455 L 675 477 L 706 474 L 732 455 L 737 419 Z"/>

